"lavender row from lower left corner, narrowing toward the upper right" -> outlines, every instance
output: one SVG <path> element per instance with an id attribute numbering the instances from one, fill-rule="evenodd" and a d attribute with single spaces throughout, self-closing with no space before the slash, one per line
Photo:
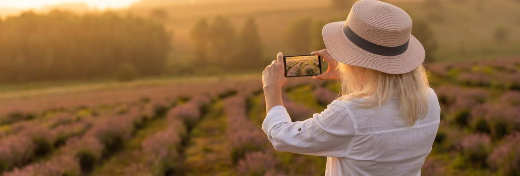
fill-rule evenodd
<path id="1" fill-rule="evenodd" d="M 96 121 L 116 114 L 127 113 L 132 109 L 134 114 L 141 114 L 141 121 L 135 121 L 132 125 L 142 124 L 145 118 L 154 116 L 155 110 L 165 104 L 157 102 L 147 103 L 135 107 L 124 106 L 122 109 L 109 109 L 99 111 L 101 114 L 88 114 L 76 116 L 71 113 L 58 113 L 45 120 L 23 121 L 13 125 L 9 133 L 0 138 L 0 171 L 10 170 L 13 167 L 21 167 L 31 163 L 36 158 L 47 155 L 61 147 L 73 137 L 82 136 Z M 118 106 L 120 107 L 120 106 Z"/>

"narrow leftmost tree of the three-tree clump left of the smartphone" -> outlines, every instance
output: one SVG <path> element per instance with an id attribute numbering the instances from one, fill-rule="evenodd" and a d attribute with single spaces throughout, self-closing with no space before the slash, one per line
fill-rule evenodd
<path id="1" fill-rule="evenodd" d="M 195 24 L 191 30 L 191 39 L 193 41 L 193 51 L 195 53 L 195 63 L 200 66 L 206 66 L 207 61 L 207 45 L 210 42 L 210 25 L 205 18 L 202 18 Z"/>

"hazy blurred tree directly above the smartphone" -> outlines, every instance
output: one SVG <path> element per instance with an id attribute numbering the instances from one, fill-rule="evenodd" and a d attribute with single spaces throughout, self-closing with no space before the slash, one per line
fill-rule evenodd
<path id="1" fill-rule="evenodd" d="M 296 53 L 309 53 L 312 37 L 310 35 L 311 20 L 297 20 L 289 26 L 285 32 L 285 44 Z"/>

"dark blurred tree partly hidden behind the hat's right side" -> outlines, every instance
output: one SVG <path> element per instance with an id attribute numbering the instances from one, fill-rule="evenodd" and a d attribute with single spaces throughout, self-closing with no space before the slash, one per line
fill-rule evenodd
<path id="1" fill-rule="evenodd" d="M 424 62 L 434 62 L 433 55 L 437 50 L 437 40 L 431 26 L 422 20 L 413 20 L 412 35 L 421 42 L 426 51 Z"/>

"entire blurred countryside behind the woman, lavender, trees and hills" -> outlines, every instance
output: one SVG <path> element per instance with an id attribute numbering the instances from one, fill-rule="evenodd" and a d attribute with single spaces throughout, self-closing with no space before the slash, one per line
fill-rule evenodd
<path id="1" fill-rule="evenodd" d="M 279 51 L 324 48 L 322 26 L 353 1 L 11 2 L 0 174 L 324 174 L 326 158 L 267 141 L 261 71 Z M 520 175 L 520 1 L 386 2 L 412 17 L 441 103 L 422 173 Z M 290 78 L 284 105 L 310 118 L 337 86 Z"/>

